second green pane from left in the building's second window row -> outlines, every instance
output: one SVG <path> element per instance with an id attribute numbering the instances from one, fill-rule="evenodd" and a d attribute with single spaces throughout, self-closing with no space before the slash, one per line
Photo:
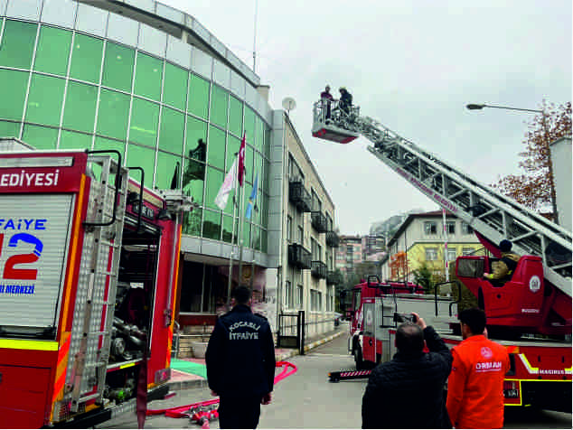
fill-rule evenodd
<path id="1" fill-rule="evenodd" d="M 64 79 L 34 73 L 28 96 L 26 121 L 46 126 L 60 126 L 65 83 Z"/>

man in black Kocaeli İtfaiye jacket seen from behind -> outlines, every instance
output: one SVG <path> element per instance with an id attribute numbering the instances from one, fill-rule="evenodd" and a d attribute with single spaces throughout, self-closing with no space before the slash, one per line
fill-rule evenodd
<path id="1" fill-rule="evenodd" d="M 260 405 L 271 402 L 275 346 L 267 319 L 250 310 L 250 289 L 239 285 L 230 296 L 233 308 L 217 320 L 207 346 L 207 380 L 220 397 L 221 428 L 256 428 Z"/>

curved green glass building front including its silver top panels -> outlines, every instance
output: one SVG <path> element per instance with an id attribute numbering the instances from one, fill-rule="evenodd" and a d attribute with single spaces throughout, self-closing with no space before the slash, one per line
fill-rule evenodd
<path id="1" fill-rule="evenodd" d="M 189 15 L 145 0 L 88 3 L 0 0 L 0 136 L 116 149 L 147 186 L 183 188 L 200 204 L 185 234 L 230 242 L 232 204 L 213 201 L 246 133 L 259 210 L 242 234 L 266 252 L 270 108 L 258 77 Z"/>

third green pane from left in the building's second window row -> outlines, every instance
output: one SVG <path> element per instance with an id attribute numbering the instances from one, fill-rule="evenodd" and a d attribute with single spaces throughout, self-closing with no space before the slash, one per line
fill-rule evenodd
<path id="1" fill-rule="evenodd" d="M 66 108 L 63 115 L 63 126 L 73 130 L 93 132 L 96 117 L 96 100 L 98 88 L 92 85 L 70 82 L 66 94 Z"/>

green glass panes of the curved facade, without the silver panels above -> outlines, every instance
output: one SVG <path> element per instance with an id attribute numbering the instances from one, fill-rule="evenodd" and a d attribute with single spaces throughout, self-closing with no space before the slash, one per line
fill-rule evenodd
<path id="1" fill-rule="evenodd" d="M 230 242 L 232 194 L 225 210 L 213 201 L 243 132 L 245 200 L 258 174 L 243 239 L 267 252 L 270 128 L 255 110 L 192 70 L 117 41 L 0 17 L 0 136 L 39 149 L 120 151 L 126 165 L 145 169 L 146 186 L 181 188 L 199 203 L 184 234 Z"/>

